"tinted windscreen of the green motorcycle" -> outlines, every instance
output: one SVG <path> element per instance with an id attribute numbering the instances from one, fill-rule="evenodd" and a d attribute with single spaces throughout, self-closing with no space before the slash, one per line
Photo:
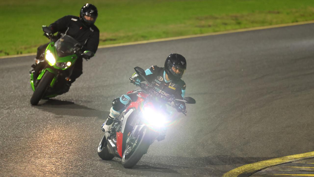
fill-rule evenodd
<path id="1" fill-rule="evenodd" d="M 55 43 L 58 57 L 65 57 L 73 55 L 75 51 L 75 45 L 79 44 L 73 37 L 64 35 Z"/>

